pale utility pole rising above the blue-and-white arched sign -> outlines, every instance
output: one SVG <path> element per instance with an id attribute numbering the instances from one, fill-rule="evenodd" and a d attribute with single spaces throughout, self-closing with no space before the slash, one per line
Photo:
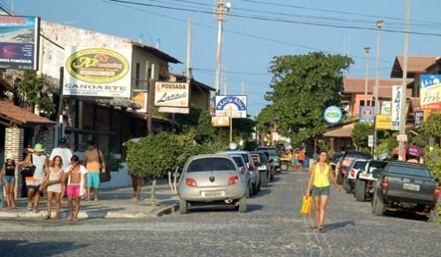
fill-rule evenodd
<path id="1" fill-rule="evenodd" d="M 214 4 L 214 15 L 217 16 L 218 20 L 218 42 L 216 49 L 216 73 L 214 77 L 214 88 L 216 89 L 216 95 L 219 95 L 220 84 L 221 84 L 221 50 L 222 50 L 222 30 L 224 21 L 224 11 L 229 11 L 231 8 L 230 3 L 224 3 L 223 0 L 219 0 L 219 3 Z"/>

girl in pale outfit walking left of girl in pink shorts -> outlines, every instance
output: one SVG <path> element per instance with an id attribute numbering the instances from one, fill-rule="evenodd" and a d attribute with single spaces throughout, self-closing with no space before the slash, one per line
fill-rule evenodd
<path id="1" fill-rule="evenodd" d="M 48 187 L 48 214 L 44 216 L 45 220 L 50 219 L 50 213 L 52 208 L 52 198 L 55 195 L 55 218 L 58 219 L 59 207 L 61 205 L 61 178 L 63 177 L 63 160 L 61 157 L 55 156 L 51 165 L 48 175 L 44 178 L 43 185 L 40 187 L 40 191 L 43 190 L 44 187 Z"/>

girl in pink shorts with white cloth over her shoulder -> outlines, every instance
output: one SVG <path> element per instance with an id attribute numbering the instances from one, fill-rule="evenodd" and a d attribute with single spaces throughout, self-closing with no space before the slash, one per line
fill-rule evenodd
<path id="1" fill-rule="evenodd" d="M 85 179 L 88 170 L 80 164 L 78 156 L 71 158 L 71 166 L 67 168 L 67 199 L 69 201 L 70 213 L 67 217 L 68 221 L 77 222 L 78 213 L 80 213 L 80 199 L 85 194 Z M 74 200 L 75 199 L 75 206 Z"/>

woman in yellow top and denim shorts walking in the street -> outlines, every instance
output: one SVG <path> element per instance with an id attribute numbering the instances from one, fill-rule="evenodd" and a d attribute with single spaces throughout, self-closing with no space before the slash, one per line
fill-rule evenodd
<path id="1" fill-rule="evenodd" d="M 324 229 L 323 221 L 325 219 L 326 204 L 329 199 L 329 177 L 336 185 L 337 191 L 341 190 L 327 160 L 328 153 L 321 150 L 321 152 L 319 152 L 319 160 L 311 167 L 306 189 L 306 196 L 309 197 L 312 195 L 313 197 L 315 221 L 317 222 L 317 230 L 319 231 Z"/>

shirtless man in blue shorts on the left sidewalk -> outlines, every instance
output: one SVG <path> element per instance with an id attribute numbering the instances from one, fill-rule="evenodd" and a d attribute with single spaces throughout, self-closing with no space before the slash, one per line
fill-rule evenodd
<path id="1" fill-rule="evenodd" d="M 92 189 L 95 190 L 94 200 L 98 200 L 99 173 L 105 172 L 103 152 L 95 147 L 93 141 L 88 142 L 88 149 L 84 152 L 83 164 L 88 170 L 88 191 L 87 199 L 90 200 Z"/>

